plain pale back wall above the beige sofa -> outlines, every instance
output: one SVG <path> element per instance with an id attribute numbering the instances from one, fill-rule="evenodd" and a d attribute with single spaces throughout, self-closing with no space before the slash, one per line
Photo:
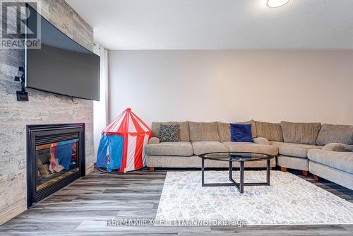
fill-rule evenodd
<path id="1" fill-rule="evenodd" d="M 353 124 L 353 51 L 109 53 L 110 121 Z"/>

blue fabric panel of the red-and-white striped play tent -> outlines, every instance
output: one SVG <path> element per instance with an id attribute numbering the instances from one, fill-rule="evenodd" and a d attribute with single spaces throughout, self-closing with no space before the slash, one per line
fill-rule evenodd
<path id="1" fill-rule="evenodd" d="M 121 160 L 123 158 L 123 136 L 118 135 L 102 135 L 100 138 L 100 146 L 97 152 L 97 167 L 107 167 L 107 171 L 118 170 L 121 168 Z M 109 165 L 107 166 L 107 149 L 109 147 Z"/>

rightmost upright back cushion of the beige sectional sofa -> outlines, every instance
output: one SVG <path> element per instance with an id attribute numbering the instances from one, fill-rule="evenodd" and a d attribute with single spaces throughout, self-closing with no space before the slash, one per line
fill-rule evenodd
<path id="1" fill-rule="evenodd" d="M 323 124 L 318 132 L 316 144 L 328 143 L 353 144 L 353 125 Z"/>

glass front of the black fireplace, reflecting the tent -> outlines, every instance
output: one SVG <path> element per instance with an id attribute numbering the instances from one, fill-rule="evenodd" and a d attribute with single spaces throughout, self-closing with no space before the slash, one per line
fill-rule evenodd
<path id="1" fill-rule="evenodd" d="M 36 191 L 80 171 L 79 138 L 35 146 L 37 160 Z"/>

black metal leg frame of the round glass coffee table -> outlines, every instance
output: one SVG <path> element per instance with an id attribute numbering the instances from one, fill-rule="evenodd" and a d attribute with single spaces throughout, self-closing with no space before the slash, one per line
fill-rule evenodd
<path id="1" fill-rule="evenodd" d="M 232 183 L 205 183 L 205 159 L 201 158 L 201 175 L 202 175 L 202 187 L 224 187 L 224 186 L 235 186 L 240 191 L 241 194 L 244 193 L 244 186 L 270 186 L 270 160 L 273 156 L 269 156 L 266 160 L 266 182 L 260 183 L 244 183 L 244 160 L 237 160 L 240 165 L 240 182 L 237 183 L 232 176 L 233 171 L 233 160 L 229 159 L 229 180 Z M 263 159 L 260 159 L 263 160 Z M 256 160 L 253 160 L 256 161 Z"/>

